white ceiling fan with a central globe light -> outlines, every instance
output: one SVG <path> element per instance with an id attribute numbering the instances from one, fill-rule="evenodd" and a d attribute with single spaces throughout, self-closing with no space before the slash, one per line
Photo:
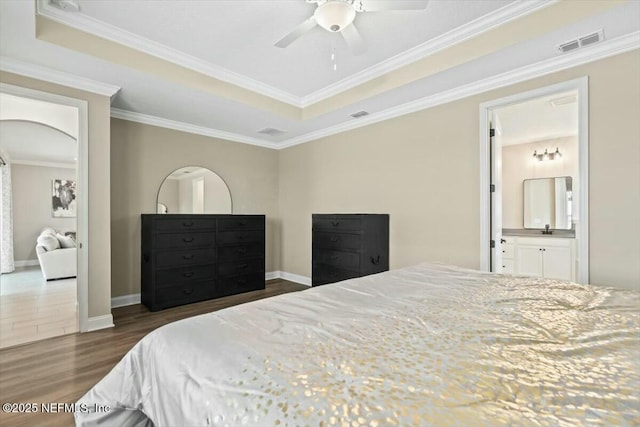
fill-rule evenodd
<path id="1" fill-rule="evenodd" d="M 306 2 L 317 4 L 313 16 L 278 40 L 275 46 L 285 48 L 307 31 L 320 26 L 331 33 L 342 34 L 351 51 L 359 55 L 367 48 L 360 32 L 353 24 L 356 14 L 386 10 L 422 10 L 427 7 L 428 0 L 306 0 Z"/>

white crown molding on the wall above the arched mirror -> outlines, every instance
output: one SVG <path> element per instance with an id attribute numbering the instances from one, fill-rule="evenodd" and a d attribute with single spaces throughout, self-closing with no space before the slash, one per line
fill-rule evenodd
<path id="1" fill-rule="evenodd" d="M 252 138 L 249 136 L 239 135 L 236 133 L 208 128 L 204 126 L 196 126 L 176 120 L 164 119 L 162 117 L 135 113 L 133 111 L 121 110 L 119 108 L 111 108 L 111 117 L 114 117 L 116 119 L 128 120 L 130 122 L 143 123 L 151 126 L 159 126 L 166 129 L 178 130 L 181 132 L 193 133 L 196 135 L 208 136 L 211 138 L 241 142 L 243 144 L 257 145 L 259 147 L 277 148 L 277 145 L 271 141 L 265 141 L 259 138 Z"/>

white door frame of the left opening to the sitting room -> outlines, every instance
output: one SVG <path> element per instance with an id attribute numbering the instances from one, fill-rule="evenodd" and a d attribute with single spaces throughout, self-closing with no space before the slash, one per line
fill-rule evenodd
<path id="1" fill-rule="evenodd" d="M 89 323 L 89 104 L 87 101 L 41 92 L 21 86 L 0 83 L 0 92 L 23 98 L 75 107 L 78 110 L 78 161 L 77 161 L 77 299 L 78 327 L 88 330 Z"/>

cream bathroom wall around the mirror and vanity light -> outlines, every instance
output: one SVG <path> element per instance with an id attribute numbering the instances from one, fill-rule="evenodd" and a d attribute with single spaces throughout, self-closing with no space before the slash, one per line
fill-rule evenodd
<path id="1" fill-rule="evenodd" d="M 555 151 L 562 157 L 539 162 L 533 158 L 538 153 Z M 578 138 L 575 136 L 554 138 L 527 144 L 508 145 L 502 149 L 502 227 L 524 228 L 522 181 L 531 178 L 570 176 L 573 189 L 573 218 L 579 219 L 580 177 L 578 175 Z"/>

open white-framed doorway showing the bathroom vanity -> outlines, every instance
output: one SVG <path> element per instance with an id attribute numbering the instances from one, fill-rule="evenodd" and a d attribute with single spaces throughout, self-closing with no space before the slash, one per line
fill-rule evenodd
<path id="1" fill-rule="evenodd" d="M 588 283 L 587 78 L 484 103 L 481 267 Z"/>

